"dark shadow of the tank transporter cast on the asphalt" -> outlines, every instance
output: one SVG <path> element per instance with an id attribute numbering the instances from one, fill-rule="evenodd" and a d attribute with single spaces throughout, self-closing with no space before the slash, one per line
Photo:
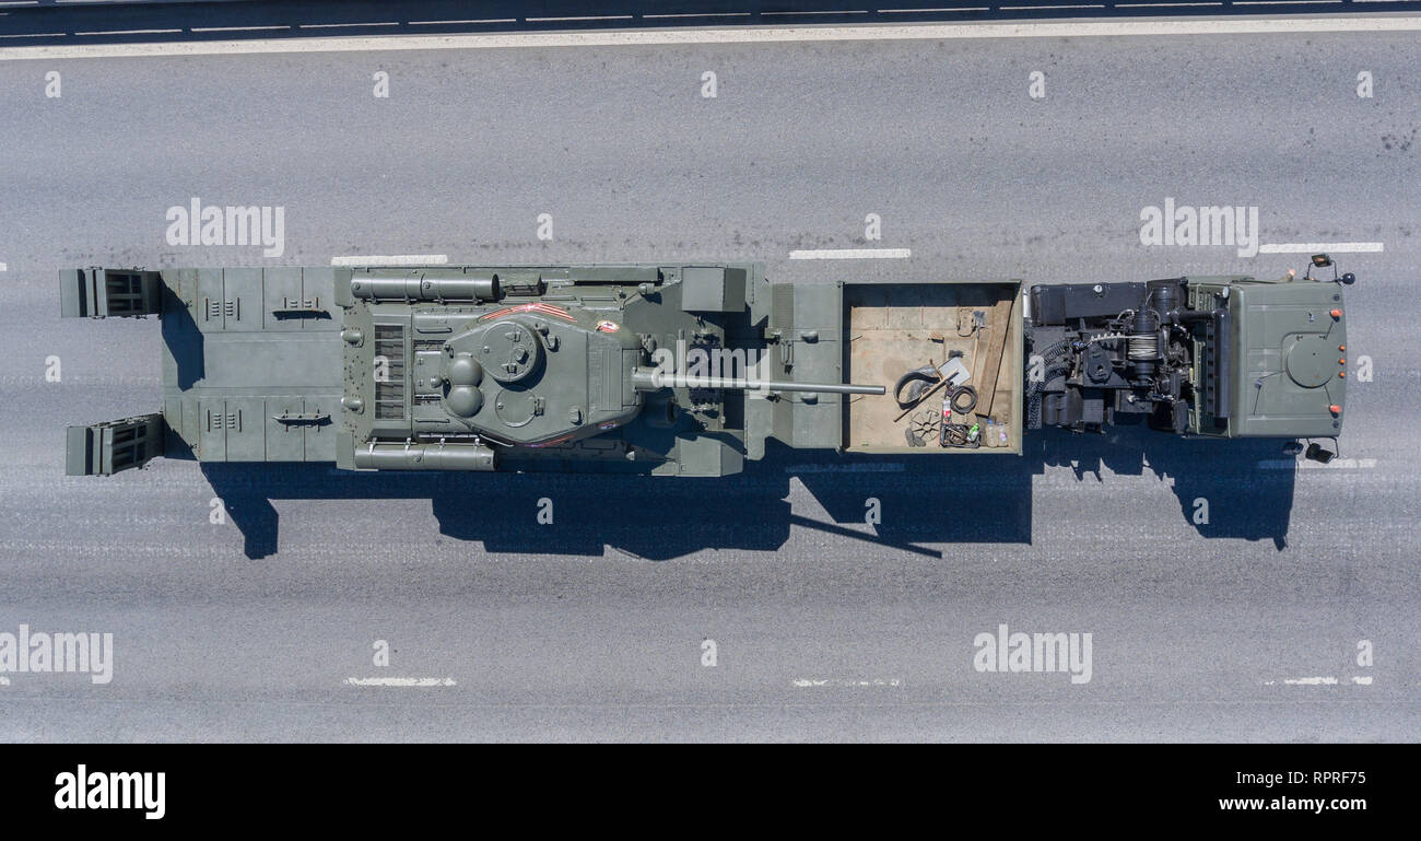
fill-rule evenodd
<path id="1" fill-rule="evenodd" d="M 549 473 L 357 473 L 331 465 L 206 463 L 202 470 L 242 530 L 244 553 L 277 551 L 280 517 L 271 500 L 351 500 L 348 516 L 379 517 L 378 500 L 429 499 L 439 531 L 479 541 L 490 553 L 601 557 L 615 553 L 668 561 L 701 550 L 774 551 L 790 528 L 863 541 L 865 551 L 942 557 L 941 544 L 1030 544 L 1037 530 L 1067 526 L 1084 483 L 1127 482 L 1154 473 L 1171 483 L 1181 517 L 1209 538 L 1272 540 L 1286 546 L 1295 470 L 1277 440 L 1175 439 L 1142 428 L 1110 435 L 1047 430 L 1027 438 L 1022 456 L 962 455 L 857 457 L 772 446 L 760 462 L 722 479 Z M 1050 477 L 1069 467 L 1074 482 Z M 823 516 L 790 507 L 800 482 Z M 1054 494 L 1061 494 L 1060 506 Z M 877 523 L 868 520 L 877 500 Z M 1141 538 L 1167 533 L 1145 496 L 1101 496 L 1118 510 L 1093 513 L 1138 526 Z M 553 523 L 539 521 L 551 501 Z M 1124 501 L 1121 501 L 1124 500 Z M 1201 504 L 1202 500 L 1202 504 Z M 1069 513 L 1076 514 L 1069 514 Z"/>

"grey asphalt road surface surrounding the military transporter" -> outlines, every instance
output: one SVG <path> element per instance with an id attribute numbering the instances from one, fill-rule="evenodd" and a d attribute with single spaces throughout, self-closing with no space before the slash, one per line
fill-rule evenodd
<path id="1" fill-rule="evenodd" d="M 107 685 L 7 673 L 0 737 L 1417 740 L 1415 57 L 1353 33 L 0 61 L 0 632 L 114 635 Z M 284 207 L 283 253 L 169 244 L 192 197 Z M 61 321 L 63 267 L 1302 271 L 1141 244 L 1167 197 L 1256 206 L 1262 243 L 1383 243 L 1334 254 L 1358 283 L 1330 466 L 1125 430 L 718 482 L 63 476 L 65 425 L 161 395 L 158 324 Z M 911 257 L 789 259 L 853 247 Z M 1090 679 L 978 671 L 1002 624 L 1090 634 Z"/>

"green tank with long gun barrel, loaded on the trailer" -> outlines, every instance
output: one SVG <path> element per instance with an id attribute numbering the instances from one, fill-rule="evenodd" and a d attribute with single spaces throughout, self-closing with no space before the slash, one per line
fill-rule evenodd
<path id="1" fill-rule="evenodd" d="M 514 449 L 611 436 L 647 406 L 651 426 L 703 412 L 713 432 L 733 392 L 884 394 L 745 369 L 688 375 L 685 355 L 764 344 L 749 330 L 743 288 L 736 294 L 739 311 L 720 294 L 720 310 L 706 314 L 688 305 L 712 303 L 688 301 L 675 274 L 659 271 L 597 284 L 549 283 L 541 270 L 357 270 L 348 294 L 337 291 L 352 466 L 485 470 Z M 658 345 L 676 347 L 682 368 L 664 371 Z"/>

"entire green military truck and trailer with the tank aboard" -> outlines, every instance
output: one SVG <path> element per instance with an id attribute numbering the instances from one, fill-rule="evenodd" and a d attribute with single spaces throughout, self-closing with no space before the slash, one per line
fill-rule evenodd
<path id="1" fill-rule="evenodd" d="M 770 283 L 753 263 L 81 268 L 61 274 L 61 313 L 156 315 L 162 332 L 162 411 L 70 426 L 70 474 L 168 456 L 723 476 L 770 440 L 1012 455 L 1043 426 L 1130 420 L 1296 442 L 1336 439 L 1346 392 L 1341 284 L 1312 277 L 1023 290 Z"/>

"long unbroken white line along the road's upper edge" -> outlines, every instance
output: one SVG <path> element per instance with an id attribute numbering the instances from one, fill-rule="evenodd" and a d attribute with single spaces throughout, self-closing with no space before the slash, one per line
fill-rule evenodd
<path id="1" fill-rule="evenodd" d="M 1421 17 L 1287 17 L 1221 20 L 1093 20 L 1070 23 L 863 24 L 824 27 L 735 27 L 603 30 L 570 33 L 486 33 L 458 36 L 361 36 L 266 38 L 159 44 L 67 44 L 0 48 L 0 61 L 128 58 L 142 55 L 227 55 L 243 53 L 367 53 L 388 50 L 486 50 L 517 47 L 647 47 L 766 44 L 784 41 L 935 41 L 956 38 L 1091 38 L 1115 36 L 1258 36 L 1317 33 L 1414 33 Z"/>

